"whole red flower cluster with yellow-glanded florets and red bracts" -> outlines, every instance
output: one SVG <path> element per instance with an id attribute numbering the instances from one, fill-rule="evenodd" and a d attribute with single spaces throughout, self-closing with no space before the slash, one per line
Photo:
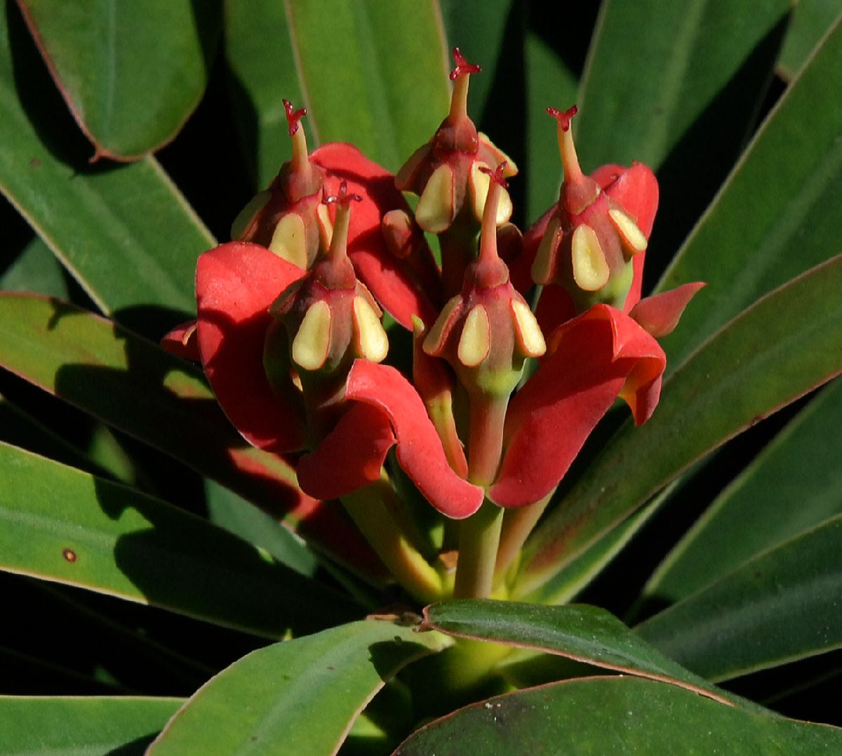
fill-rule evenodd
<path id="1" fill-rule="evenodd" d="M 446 581 L 418 589 L 400 566 L 418 555 L 390 553 L 354 504 L 392 486 L 390 450 L 446 518 L 470 519 L 484 502 L 492 521 L 546 503 L 617 397 L 636 423 L 653 413 L 665 365 L 656 338 L 701 286 L 641 300 L 657 180 L 642 163 L 583 173 L 575 106 L 548 109 L 564 181 L 521 235 L 507 192 L 517 168 L 467 114 L 479 67 L 458 48 L 454 58 L 450 112 L 397 176 L 349 144 L 308 153 L 306 111 L 285 101 L 293 157 L 234 222 L 234 241 L 200 256 L 196 321 L 163 340 L 201 361 L 249 443 L 295 452 L 302 490 L 343 500 L 425 598 Z M 402 192 L 418 195 L 414 212 Z M 384 311 L 413 333 L 411 370 L 388 363 Z M 411 544 L 404 518 L 392 519 Z M 476 561 L 466 539 L 479 537 L 463 531 L 460 570 Z M 456 580 L 457 593 L 488 594 L 493 578 L 461 591 Z"/>

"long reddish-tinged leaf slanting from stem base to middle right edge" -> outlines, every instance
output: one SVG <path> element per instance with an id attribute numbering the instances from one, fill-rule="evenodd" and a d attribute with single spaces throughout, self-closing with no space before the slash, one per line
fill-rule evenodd
<path id="1" fill-rule="evenodd" d="M 765 296 L 687 359 L 526 544 L 520 596 L 541 586 L 694 461 L 842 371 L 842 256 Z M 811 303 L 805 306 L 805 302 Z"/>

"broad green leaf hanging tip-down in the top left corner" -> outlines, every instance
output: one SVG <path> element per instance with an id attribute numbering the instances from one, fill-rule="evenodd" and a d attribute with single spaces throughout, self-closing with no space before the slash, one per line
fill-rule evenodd
<path id="1" fill-rule="evenodd" d="M 20 0 L 95 157 L 139 157 L 179 133 L 205 92 L 221 0 Z M 150 51 L 154 51 L 150 55 Z"/>

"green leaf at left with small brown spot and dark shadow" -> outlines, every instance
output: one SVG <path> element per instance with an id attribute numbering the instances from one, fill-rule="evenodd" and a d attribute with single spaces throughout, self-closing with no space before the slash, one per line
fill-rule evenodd
<path id="1" fill-rule="evenodd" d="M 269 637 L 356 613 L 224 530 L 118 483 L 0 445 L 0 569 Z"/>

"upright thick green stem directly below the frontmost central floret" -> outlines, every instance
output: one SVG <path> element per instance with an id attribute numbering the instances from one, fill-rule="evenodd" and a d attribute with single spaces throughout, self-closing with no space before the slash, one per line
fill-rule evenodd
<path id="1" fill-rule="evenodd" d="M 461 521 L 453 588 L 456 599 L 488 599 L 491 595 L 503 512 L 486 499 L 476 513 Z"/>

